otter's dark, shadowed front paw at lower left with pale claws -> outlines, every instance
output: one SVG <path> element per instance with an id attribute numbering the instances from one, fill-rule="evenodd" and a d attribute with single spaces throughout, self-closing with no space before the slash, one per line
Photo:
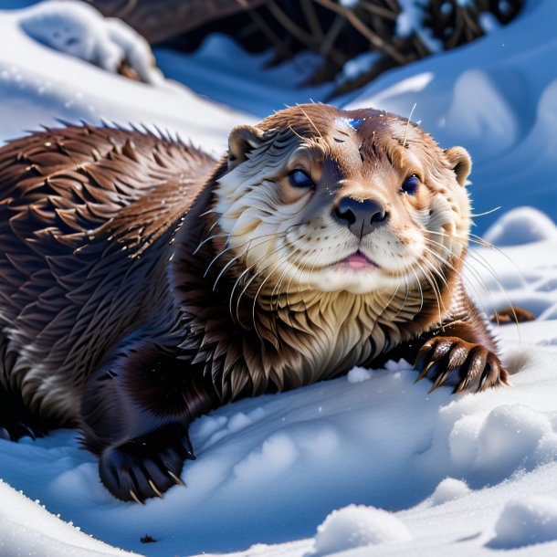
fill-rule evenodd
<path id="1" fill-rule="evenodd" d="M 180 479 L 185 459 L 195 455 L 188 436 L 156 430 L 127 443 L 106 448 L 100 455 L 100 481 L 114 497 L 143 503 L 163 497 Z"/>

